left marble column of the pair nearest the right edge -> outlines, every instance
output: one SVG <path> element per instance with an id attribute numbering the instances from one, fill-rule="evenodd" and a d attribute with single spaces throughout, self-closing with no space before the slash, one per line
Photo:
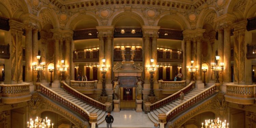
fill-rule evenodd
<path id="1" fill-rule="evenodd" d="M 239 67 L 239 42 L 238 42 L 238 31 L 234 31 L 234 68 Z M 239 68 L 238 68 L 239 69 Z M 239 70 L 234 69 L 234 83 L 238 84 Z"/>

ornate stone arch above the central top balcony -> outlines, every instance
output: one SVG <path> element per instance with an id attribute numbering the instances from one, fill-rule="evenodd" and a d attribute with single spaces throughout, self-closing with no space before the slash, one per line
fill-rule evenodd
<path id="1" fill-rule="evenodd" d="M 144 18 L 142 13 L 137 11 L 125 12 L 123 10 L 114 12 L 113 15 L 109 18 L 108 25 L 114 25 L 121 16 L 131 16 L 137 19 L 140 22 L 141 26 L 148 25 L 148 21 L 146 18 Z"/>

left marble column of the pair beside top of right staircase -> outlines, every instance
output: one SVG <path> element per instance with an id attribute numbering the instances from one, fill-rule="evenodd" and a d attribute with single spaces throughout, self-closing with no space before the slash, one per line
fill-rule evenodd
<path id="1" fill-rule="evenodd" d="M 186 66 L 190 66 L 191 65 L 191 39 L 186 39 Z M 184 67 L 186 68 L 186 67 Z M 190 82 L 190 73 L 187 72 L 186 74 L 186 83 Z"/>

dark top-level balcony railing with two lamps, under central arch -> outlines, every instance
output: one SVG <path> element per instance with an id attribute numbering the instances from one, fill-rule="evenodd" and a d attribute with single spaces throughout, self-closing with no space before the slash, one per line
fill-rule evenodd
<path id="1" fill-rule="evenodd" d="M 142 38 L 141 27 L 115 27 L 114 38 Z"/>

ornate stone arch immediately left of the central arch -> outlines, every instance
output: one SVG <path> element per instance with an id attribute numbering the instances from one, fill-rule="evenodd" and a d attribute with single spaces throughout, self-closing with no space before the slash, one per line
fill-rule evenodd
<path id="1" fill-rule="evenodd" d="M 83 18 L 90 18 L 91 20 L 95 20 L 98 23 L 98 26 L 101 26 L 101 21 L 100 19 L 95 15 L 95 13 L 92 12 L 86 12 L 86 14 L 81 14 L 76 13 L 72 17 L 69 18 L 67 24 L 66 24 L 66 29 L 71 29 L 73 30 L 76 23 L 79 22 Z"/>

